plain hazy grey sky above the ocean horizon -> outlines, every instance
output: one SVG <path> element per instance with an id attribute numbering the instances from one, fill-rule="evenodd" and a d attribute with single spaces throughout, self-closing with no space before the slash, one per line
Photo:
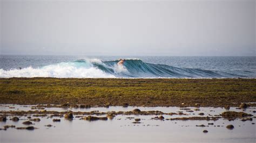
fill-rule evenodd
<path id="1" fill-rule="evenodd" d="M 0 1 L 0 54 L 256 55 L 254 0 Z"/>

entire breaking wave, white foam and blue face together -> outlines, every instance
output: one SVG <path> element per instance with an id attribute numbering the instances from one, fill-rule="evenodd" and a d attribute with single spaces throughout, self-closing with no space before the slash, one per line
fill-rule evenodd
<path id="1" fill-rule="evenodd" d="M 237 78 L 246 77 L 220 71 L 196 68 L 178 68 L 146 63 L 139 59 L 126 59 L 123 65 L 118 60 L 75 60 L 55 65 L 23 69 L 0 69 L 0 77 L 58 77 L 58 78 Z"/>

